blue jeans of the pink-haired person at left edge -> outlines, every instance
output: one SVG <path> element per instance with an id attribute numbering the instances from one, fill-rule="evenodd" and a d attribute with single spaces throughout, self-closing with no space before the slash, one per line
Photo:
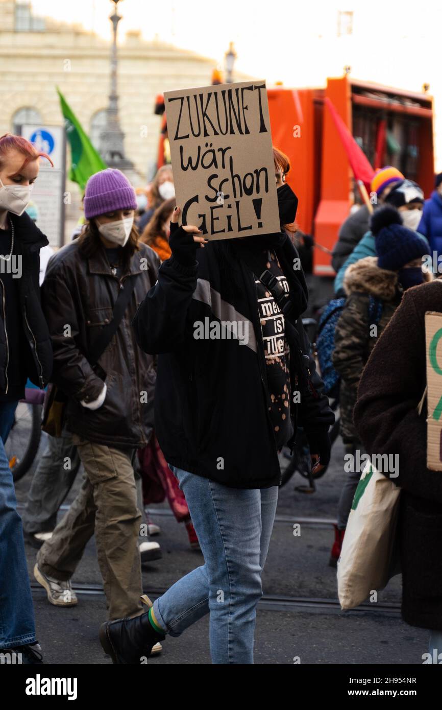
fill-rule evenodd
<path id="1" fill-rule="evenodd" d="M 17 402 L 0 404 L 0 648 L 35 643 L 21 518 L 4 450 Z"/>

